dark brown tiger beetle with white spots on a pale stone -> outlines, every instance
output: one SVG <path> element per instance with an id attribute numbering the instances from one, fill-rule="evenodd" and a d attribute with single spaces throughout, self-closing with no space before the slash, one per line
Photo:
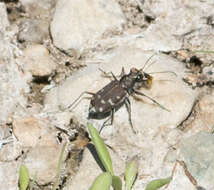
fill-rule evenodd
<path id="1" fill-rule="evenodd" d="M 107 75 L 105 71 L 102 71 L 102 72 L 105 75 Z M 164 72 L 170 72 L 170 71 L 163 71 L 163 72 L 156 72 L 156 73 L 164 73 Z M 133 132 L 136 134 L 136 131 L 134 130 L 134 127 L 132 124 L 132 118 L 131 118 L 131 103 L 129 100 L 130 95 L 144 96 L 150 99 L 153 103 L 158 105 L 160 108 L 166 111 L 169 111 L 167 108 L 162 106 L 153 98 L 138 91 L 141 87 L 150 89 L 152 85 L 153 77 L 150 74 L 143 72 L 143 68 L 139 70 L 136 68 L 132 68 L 128 74 L 125 74 L 124 68 L 122 68 L 122 72 L 120 74 L 119 80 L 112 72 L 111 72 L 111 75 L 113 80 L 109 84 L 104 86 L 101 90 L 99 90 L 97 93 L 85 91 L 81 93 L 81 95 L 68 107 L 68 108 L 72 107 L 78 100 L 81 99 L 81 97 L 84 94 L 92 95 L 92 97 L 90 98 L 91 101 L 89 106 L 88 119 L 104 119 L 108 117 L 108 119 L 104 121 L 102 127 L 100 128 L 99 133 L 101 133 L 102 129 L 105 126 L 113 124 L 114 113 L 118 109 L 120 109 L 121 106 L 125 104 L 126 109 L 128 111 L 129 123 L 132 127 Z M 108 123 L 109 120 L 110 120 L 110 123 Z"/>

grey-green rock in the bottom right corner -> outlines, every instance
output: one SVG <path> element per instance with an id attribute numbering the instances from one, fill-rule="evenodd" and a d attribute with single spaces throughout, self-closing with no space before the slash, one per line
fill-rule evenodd
<path id="1" fill-rule="evenodd" d="M 205 189 L 214 188 L 214 136 L 207 132 L 199 132 L 183 140 L 180 154 L 191 175 Z"/>

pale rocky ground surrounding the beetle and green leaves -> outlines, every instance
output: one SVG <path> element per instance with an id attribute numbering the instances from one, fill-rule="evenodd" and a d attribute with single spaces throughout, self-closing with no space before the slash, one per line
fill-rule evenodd
<path id="1" fill-rule="evenodd" d="M 52 189 L 65 142 L 59 189 L 89 189 L 102 172 L 86 148 L 90 100 L 67 108 L 110 82 L 99 69 L 128 73 L 153 55 L 141 92 L 170 111 L 130 97 L 136 134 L 125 106 L 115 113 L 101 133 L 115 173 L 137 159 L 140 190 L 178 161 L 167 189 L 213 190 L 213 10 L 212 0 L 0 1 L 0 189 L 19 189 L 23 163 L 35 189 Z"/>

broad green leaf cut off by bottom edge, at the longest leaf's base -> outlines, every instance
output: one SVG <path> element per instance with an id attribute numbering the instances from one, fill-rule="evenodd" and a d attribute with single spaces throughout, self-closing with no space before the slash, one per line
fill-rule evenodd
<path id="1" fill-rule="evenodd" d="M 100 174 L 93 182 L 89 190 L 109 190 L 112 184 L 112 176 L 109 172 Z"/>

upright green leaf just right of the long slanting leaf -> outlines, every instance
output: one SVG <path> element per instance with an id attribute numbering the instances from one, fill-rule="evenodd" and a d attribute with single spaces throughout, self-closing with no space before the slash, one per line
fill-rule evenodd
<path id="1" fill-rule="evenodd" d="M 126 165 L 125 180 L 127 190 L 131 190 L 137 177 L 137 173 L 138 173 L 137 163 L 134 160 L 132 160 Z"/>

